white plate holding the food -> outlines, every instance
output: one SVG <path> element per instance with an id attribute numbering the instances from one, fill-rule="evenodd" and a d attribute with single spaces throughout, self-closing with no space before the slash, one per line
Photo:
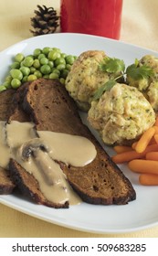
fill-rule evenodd
<path id="1" fill-rule="evenodd" d="M 56 47 L 62 52 L 79 55 L 88 49 L 104 50 L 110 57 L 123 59 L 126 65 L 145 54 L 158 53 L 145 48 L 138 48 L 120 41 L 104 37 L 81 34 L 54 34 L 26 39 L 0 53 L 0 83 L 5 78 L 12 58 L 18 52 L 32 54 L 35 48 Z M 110 149 L 105 147 L 111 155 Z M 132 181 L 137 198 L 125 206 L 94 206 L 82 203 L 68 209 L 54 209 L 38 206 L 27 198 L 17 195 L 1 196 L 0 202 L 8 207 L 25 212 L 38 219 L 58 224 L 70 229 L 94 233 L 123 233 L 146 229 L 158 225 L 158 187 L 142 187 L 138 176 L 132 174 L 125 165 L 121 170 Z"/>

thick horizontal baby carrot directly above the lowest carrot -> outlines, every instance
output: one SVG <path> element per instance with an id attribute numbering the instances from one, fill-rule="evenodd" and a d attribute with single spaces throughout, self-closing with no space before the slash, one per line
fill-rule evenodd
<path id="1" fill-rule="evenodd" d="M 135 173 L 158 175 L 158 161 L 134 159 L 129 162 L 129 168 Z"/>

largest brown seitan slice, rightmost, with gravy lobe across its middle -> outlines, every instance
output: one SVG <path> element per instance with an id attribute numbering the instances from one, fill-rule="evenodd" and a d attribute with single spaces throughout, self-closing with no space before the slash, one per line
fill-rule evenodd
<path id="1" fill-rule="evenodd" d="M 52 131 L 85 136 L 95 145 L 96 158 L 84 167 L 60 163 L 68 182 L 87 203 L 102 205 L 127 204 L 136 194 L 124 176 L 79 117 L 75 102 L 56 80 L 39 79 L 26 89 L 23 109 L 36 123 L 38 131 Z"/>

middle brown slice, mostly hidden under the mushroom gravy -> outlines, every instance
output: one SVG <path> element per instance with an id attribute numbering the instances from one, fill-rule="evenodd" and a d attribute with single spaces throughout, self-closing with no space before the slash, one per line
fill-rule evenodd
<path id="1" fill-rule="evenodd" d="M 31 116 L 27 114 L 22 108 L 22 102 L 24 100 L 26 89 L 29 82 L 26 82 L 18 88 L 14 98 L 12 100 L 11 112 L 7 122 L 31 122 Z M 46 205 L 51 208 L 68 208 L 68 201 L 64 204 L 55 204 L 47 200 L 46 197 L 40 191 L 36 178 L 30 175 L 26 170 L 19 165 L 16 160 L 10 159 L 9 173 L 12 181 L 16 184 L 16 187 L 26 196 L 33 199 L 37 204 Z"/>

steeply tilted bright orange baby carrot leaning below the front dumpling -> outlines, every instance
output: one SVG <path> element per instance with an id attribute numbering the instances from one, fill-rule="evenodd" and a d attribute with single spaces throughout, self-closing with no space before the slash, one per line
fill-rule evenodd
<path id="1" fill-rule="evenodd" d="M 150 143 L 151 139 L 153 138 L 153 135 L 155 133 L 155 129 L 153 127 L 146 130 L 143 134 L 140 140 L 137 142 L 135 146 L 135 151 L 138 153 L 142 153 L 147 145 Z"/>

